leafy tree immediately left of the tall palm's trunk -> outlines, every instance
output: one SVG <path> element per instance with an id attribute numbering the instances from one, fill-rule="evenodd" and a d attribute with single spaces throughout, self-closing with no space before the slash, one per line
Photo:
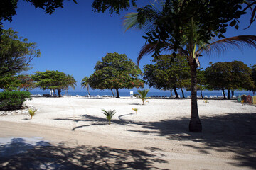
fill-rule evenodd
<path id="1" fill-rule="evenodd" d="M 144 81 L 150 87 L 163 90 L 174 89 L 176 98 L 177 88 L 186 86 L 189 78 L 189 67 L 186 57 L 178 55 L 161 55 L 152 60 L 154 64 L 144 66 Z M 183 96 L 184 97 L 184 96 Z"/>

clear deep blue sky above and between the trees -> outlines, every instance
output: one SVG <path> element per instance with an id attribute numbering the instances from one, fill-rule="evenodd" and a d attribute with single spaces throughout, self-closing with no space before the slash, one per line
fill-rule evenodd
<path id="1" fill-rule="evenodd" d="M 128 30 L 124 33 L 122 17 L 127 11 L 117 16 L 106 13 L 94 13 L 91 8 L 92 0 L 65 1 L 64 8 L 58 8 L 52 15 L 45 14 L 41 9 L 24 1 L 18 2 L 17 15 L 11 23 L 5 21 L 4 28 L 14 28 L 18 35 L 36 42 L 41 50 L 41 57 L 31 63 L 36 71 L 58 70 L 72 74 L 78 86 L 75 91 L 85 91 L 80 88 L 83 77 L 93 73 L 97 61 L 107 52 L 126 54 L 136 62 L 137 55 L 144 45 L 143 30 Z M 249 23 L 248 16 L 241 20 L 239 30 L 229 28 L 226 37 L 235 35 L 255 35 L 256 23 L 250 29 L 243 30 Z M 144 57 L 139 67 L 150 64 L 151 56 Z M 208 67 L 209 62 L 225 62 L 240 60 L 250 66 L 256 64 L 256 50 L 245 48 L 230 50 L 223 55 L 203 56 L 200 58 L 201 67 Z M 124 90 L 127 91 L 127 90 Z M 156 91 L 153 90 L 152 91 Z"/>

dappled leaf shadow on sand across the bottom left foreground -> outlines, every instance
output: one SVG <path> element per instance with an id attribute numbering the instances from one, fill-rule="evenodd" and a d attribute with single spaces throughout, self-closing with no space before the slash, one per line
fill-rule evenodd
<path id="1" fill-rule="evenodd" d="M 159 156 L 137 149 L 43 143 L 31 145 L 22 138 L 14 138 L 0 145 L 0 169 L 159 169 L 154 163 L 167 163 Z"/>

